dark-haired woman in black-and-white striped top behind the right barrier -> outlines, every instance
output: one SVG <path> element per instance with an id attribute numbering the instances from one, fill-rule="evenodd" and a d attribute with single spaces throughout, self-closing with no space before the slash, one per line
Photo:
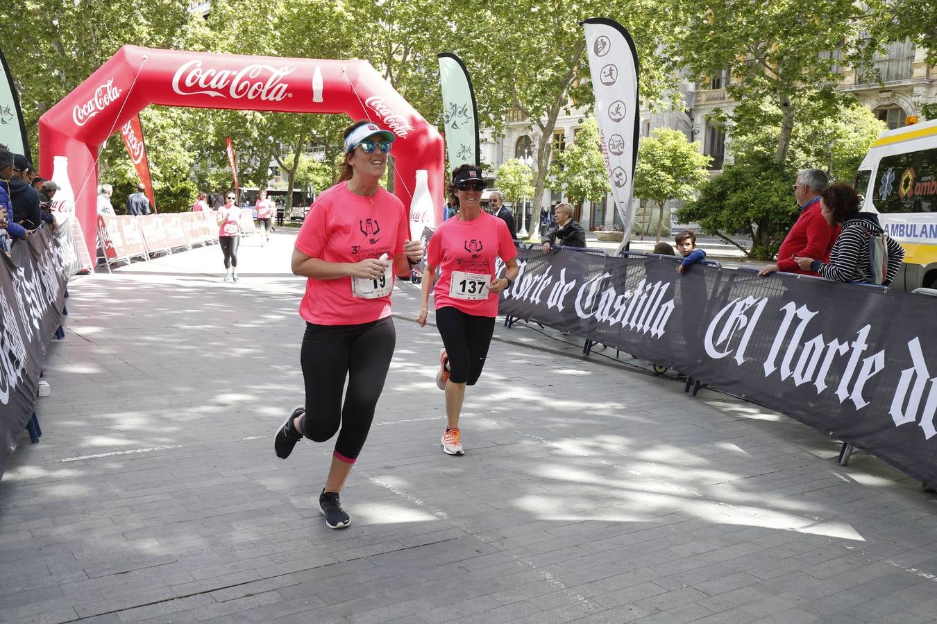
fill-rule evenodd
<path id="1" fill-rule="evenodd" d="M 901 268 L 904 250 L 885 234 L 875 212 L 859 212 L 859 196 L 848 184 L 833 184 L 820 196 L 820 210 L 829 225 L 842 224 L 840 236 L 833 243 L 829 263 L 813 258 L 795 257 L 797 265 L 812 270 L 827 280 L 844 283 L 879 283 L 874 275 L 870 253 L 874 253 L 872 237 L 885 241 L 883 285 L 888 285 Z"/>

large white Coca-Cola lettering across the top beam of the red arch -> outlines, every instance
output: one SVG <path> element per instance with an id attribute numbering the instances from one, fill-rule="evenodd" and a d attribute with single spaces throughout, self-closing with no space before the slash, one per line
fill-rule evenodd
<path id="1" fill-rule="evenodd" d="M 247 65 L 233 69 L 202 68 L 201 61 L 189 61 L 176 70 L 172 77 L 172 91 L 180 95 L 210 95 L 212 97 L 247 98 L 279 102 L 292 94 L 290 86 L 281 82 L 295 67 L 273 65 Z"/>

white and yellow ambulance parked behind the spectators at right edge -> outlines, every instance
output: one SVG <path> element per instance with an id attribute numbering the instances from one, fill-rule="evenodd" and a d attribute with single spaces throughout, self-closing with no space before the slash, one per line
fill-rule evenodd
<path id="1" fill-rule="evenodd" d="M 889 130 L 872 143 L 855 176 L 862 210 L 878 212 L 904 248 L 895 288 L 937 288 L 937 120 Z"/>

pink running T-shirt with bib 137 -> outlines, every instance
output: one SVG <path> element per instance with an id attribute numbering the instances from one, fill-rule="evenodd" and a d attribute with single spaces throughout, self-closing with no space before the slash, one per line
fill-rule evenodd
<path id="1" fill-rule="evenodd" d="M 426 262 L 441 270 L 433 288 L 436 309 L 451 306 L 474 316 L 498 316 L 498 295 L 486 287 L 495 281 L 498 257 L 504 262 L 517 257 L 508 225 L 498 217 L 482 212 L 472 221 L 456 216 L 439 225 L 426 254 Z"/>

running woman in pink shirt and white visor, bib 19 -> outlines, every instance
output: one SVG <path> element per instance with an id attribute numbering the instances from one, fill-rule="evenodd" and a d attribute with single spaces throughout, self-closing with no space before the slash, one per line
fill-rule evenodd
<path id="1" fill-rule="evenodd" d="M 341 176 L 309 210 L 292 254 L 292 272 L 306 278 L 299 308 L 305 406 L 287 417 L 274 446 L 286 459 L 304 435 L 326 442 L 338 433 L 319 496 L 329 529 L 351 522 L 338 494 L 367 439 L 394 355 L 394 275 L 409 275 L 423 258 L 423 243 L 409 240 L 408 210 L 379 186 L 393 142 L 376 123 L 345 130 Z"/>

